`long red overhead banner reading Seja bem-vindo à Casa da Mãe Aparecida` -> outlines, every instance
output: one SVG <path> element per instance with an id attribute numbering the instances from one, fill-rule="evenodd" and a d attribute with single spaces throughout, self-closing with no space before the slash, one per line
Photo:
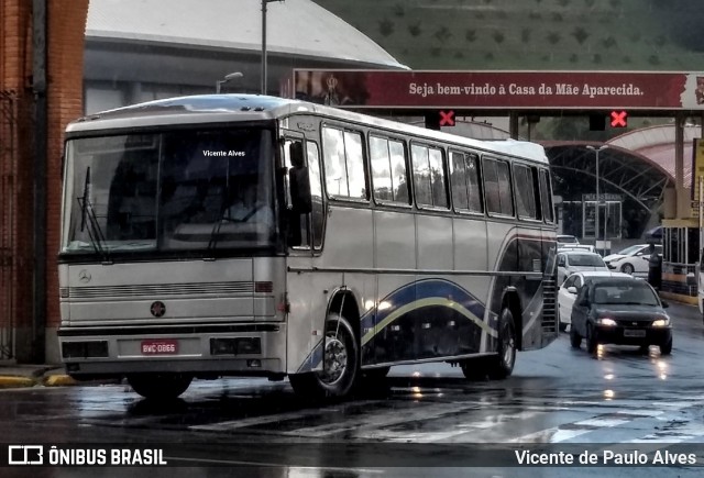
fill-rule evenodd
<path id="1" fill-rule="evenodd" d="M 704 109 L 704 73 L 297 69 L 294 86 L 354 108 Z"/>

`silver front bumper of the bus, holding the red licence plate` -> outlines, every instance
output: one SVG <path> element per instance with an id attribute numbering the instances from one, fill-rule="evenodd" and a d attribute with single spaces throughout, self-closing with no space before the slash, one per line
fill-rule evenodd
<path id="1" fill-rule="evenodd" d="M 58 338 L 66 371 L 78 379 L 135 373 L 206 377 L 286 371 L 285 323 L 63 327 Z"/>

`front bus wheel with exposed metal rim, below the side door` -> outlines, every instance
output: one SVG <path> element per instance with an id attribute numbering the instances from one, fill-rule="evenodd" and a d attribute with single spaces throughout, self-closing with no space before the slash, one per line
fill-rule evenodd
<path id="1" fill-rule="evenodd" d="M 340 398 L 350 392 L 360 370 L 360 351 L 345 318 L 330 314 L 326 320 L 322 370 L 288 376 L 294 391 L 314 400 Z"/>

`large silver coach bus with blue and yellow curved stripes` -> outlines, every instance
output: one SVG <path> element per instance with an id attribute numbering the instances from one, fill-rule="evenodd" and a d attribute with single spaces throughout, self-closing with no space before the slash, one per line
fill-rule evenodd
<path id="1" fill-rule="evenodd" d="M 343 397 L 400 364 L 501 379 L 558 336 L 537 144 L 193 96 L 74 121 L 63 175 L 58 340 L 79 380 Z"/>

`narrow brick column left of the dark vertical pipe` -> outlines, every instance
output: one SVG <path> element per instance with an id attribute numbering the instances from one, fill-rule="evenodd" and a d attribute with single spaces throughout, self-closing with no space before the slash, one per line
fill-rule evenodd
<path id="1" fill-rule="evenodd" d="M 32 338 L 32 2 L 0 1 L 0 358 Z"/>

